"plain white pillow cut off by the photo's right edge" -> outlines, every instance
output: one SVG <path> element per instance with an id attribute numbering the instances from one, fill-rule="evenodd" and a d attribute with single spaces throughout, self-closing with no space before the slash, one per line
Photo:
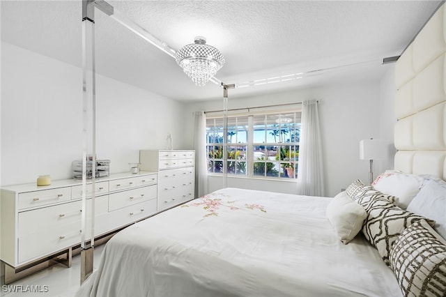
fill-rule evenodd
<path id="1" fill-rule="evenodd" d="M 446 183 L 426 180 L 407 210 L 436 221 L 434 228 L 446 239 Z"/>

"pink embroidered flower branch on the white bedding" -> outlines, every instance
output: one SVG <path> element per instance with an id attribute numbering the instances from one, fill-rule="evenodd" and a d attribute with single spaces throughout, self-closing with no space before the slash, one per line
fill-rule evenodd
<path id="1" fill-rule="evenodd" d="M 194 202 L 190 204 L 184 204 L 181 207 L 190 207 L 190 206 L 203 206 L 203 209 L 207 211 L 206 215 L 203 215 L 204 218 L 210 217 L 210 216 L 218 216 L 217 211 L 224 207 L 229 208 L 231 211 L 236 211 L 240 207 L 235 206 L 234 204 L 236 201 L 222 201 L 222 198 L 213 198 L 212 196 L 215 195 L 215 193 L 211 193 L 209 195 L 204 195 L 203 197 L 200 197 L 196 199 Z M 223 195 L 219 195 L 223 196 Z M 199 200 L 199 202 L 197 202 Z M 266 213 L 266 209 L 259 205 L 259 204 L 245 204 L 243 208 L 255 210 L 259 209 L 260 211 L 263 211 L 263 213 Z"/>

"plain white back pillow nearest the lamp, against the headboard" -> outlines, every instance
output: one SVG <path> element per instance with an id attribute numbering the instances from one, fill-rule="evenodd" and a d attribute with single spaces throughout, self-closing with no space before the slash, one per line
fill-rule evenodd
<path id="1" fill-rule="evenodd" d="M 371 184 L 375 190 L 398 197 L 400 208 L 406 209 L 410 201 L 420 192 L 424 179 L 415 174 L 387 170 Z"/>

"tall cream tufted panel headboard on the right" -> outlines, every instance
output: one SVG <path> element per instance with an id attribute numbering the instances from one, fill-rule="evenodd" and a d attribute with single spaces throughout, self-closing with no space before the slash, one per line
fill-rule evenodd
<path id="1" fill-rule="evenodd" d="M 446 13 L 441 6 L 395 66 L 394 168 L 446 180 Z"/>

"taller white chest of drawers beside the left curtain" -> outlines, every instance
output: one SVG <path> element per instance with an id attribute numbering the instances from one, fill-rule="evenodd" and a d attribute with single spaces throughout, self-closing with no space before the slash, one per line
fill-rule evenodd
<path id="1" fill-rule="evenodd" d="M 139 162 L 158 172 L 157 211 L 195 198 L 195 151 L 139 151 Z"/>

